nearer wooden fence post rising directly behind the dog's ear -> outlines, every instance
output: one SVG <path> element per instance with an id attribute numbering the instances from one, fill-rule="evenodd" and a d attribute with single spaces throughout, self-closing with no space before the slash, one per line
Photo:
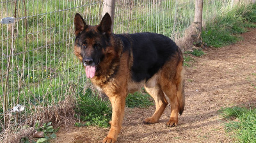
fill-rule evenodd
<path id="1" fill-rule="evenodd" d="M 109 13 L 111 20 L 112 20 L 111 32 L 113 32 L 113 25 L 114 25 L 115 3 L 116 3 L 116 0 L 104 0 L 103 1 L 102 17 L 107 12 Z"/>

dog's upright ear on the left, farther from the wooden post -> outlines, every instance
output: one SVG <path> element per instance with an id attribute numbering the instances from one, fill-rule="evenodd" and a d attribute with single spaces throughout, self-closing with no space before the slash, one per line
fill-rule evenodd
<path id="1" fill-rule="evenodd" d="M 74 25 L 75 25 L 75 34 L 79 34 L 81 31 L 84 31 L 88 26 L 84 22 L 83 17 L 79 14 L 76 13 L 75 19 L 74 19 Z"/>

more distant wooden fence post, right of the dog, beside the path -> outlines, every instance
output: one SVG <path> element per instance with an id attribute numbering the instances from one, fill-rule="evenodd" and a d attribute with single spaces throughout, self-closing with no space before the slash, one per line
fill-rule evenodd
<path id="1" fill-rule="evenodd" d="M 196 29 L 198 29 L 199 34 L 202 32 L 202 22 L 203 22 L 203 0 L 196 0 L 194 23 L 196 25 Z"/>

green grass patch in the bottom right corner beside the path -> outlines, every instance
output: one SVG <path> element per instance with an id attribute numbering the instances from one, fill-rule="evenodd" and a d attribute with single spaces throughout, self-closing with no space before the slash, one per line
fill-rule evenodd
<path id="1" fill-rule="evenodd" d="M 221 109 L 224 117 L 232 121 L 225 123 L 228 132 L 235 132 L 238 142 L 256 142 L 256 109 L 230 107 Z"/>

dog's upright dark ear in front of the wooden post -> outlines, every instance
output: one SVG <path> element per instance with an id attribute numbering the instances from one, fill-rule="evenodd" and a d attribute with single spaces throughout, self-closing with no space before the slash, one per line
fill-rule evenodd
<path id="1" fill-rule="evenodd" d="M 109 15 L 109 13 L 106 13 L 104 15 L 104 17 L 102 18 L 98 29 L 102 34 L 110 34 L 111 33 L 111 25 L 112 25 L 111 17 Z"/>

